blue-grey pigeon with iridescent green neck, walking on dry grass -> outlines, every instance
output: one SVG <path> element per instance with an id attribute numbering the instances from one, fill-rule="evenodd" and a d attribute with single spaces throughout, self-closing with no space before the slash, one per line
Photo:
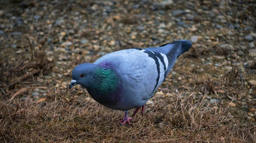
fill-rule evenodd
<path id="1" fill-rule="evenodd" d="M 69 88 L 79 84 L 90 96 L 110 109 L 125 112 L 120 125 L 131 124 L 145 103 L 166 79 L 177 57 L 192 46 L 189 40 L 177 40 L 157 48 L 125 49 L 82 63 L 72 72 Z M 136 109 L 131 117 L 128 110 Z"/>

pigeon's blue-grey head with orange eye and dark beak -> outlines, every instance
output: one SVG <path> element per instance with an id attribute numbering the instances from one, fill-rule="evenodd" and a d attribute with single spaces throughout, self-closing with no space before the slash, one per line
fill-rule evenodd
<path id="1" fill-rule="evenodd" d="M 69 88 L 71 89 L 76 84 L 87 87 L 88 83 L 93 81 L 93 75 L 96 69 L 98 69 L 98 65 L 93 63 L 82 63 L 76 66 L 72 72 L 72 80 Z"/>

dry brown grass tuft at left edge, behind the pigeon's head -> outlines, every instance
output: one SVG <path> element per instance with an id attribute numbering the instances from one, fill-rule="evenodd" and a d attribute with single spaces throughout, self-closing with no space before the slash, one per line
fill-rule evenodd
<path id="1" fill-rule="evenodd" d="M 47 59 L 47 52 L 44 49 L 44 45 L 41 45 L 41 49 L 35 49 L 28 40 L 30 46 L 30 56 L 26 52 L 14 57 L 11 61 L 1 60 L 0 74 L 0 87 L 3 89 L 13 89 L 17 87 L 18 83 L 22 83 L 30 77 L 39 74 L 48 74 L 54 67 L 55 63 L 52 60 Z"/>

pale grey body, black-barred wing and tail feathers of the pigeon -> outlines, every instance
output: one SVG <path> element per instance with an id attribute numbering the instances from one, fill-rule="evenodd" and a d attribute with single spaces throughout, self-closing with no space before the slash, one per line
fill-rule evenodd
<path id="1" fill-rule="evenodd" d="M 177 57 L 191 46 L 189 40 L 179 40 L 157 48 L 116 51 L 96 60 L 98 65 L 111 64 L 122 83 L 118 103 L 105 106 L 122 111 L 143 106 L 163 83 Z"/>

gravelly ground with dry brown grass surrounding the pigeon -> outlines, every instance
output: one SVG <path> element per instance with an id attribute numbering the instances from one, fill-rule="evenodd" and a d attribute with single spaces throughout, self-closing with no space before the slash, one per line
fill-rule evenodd
<path id="1" fill-rule="evenodd" d="M 254 0 L 0 1 L 1 142 L 256 142 Z M 134 126 L 68 86 L 120 49 L 188 39 Z M 131 112 L 130 112 L 131 114 Z"/>

